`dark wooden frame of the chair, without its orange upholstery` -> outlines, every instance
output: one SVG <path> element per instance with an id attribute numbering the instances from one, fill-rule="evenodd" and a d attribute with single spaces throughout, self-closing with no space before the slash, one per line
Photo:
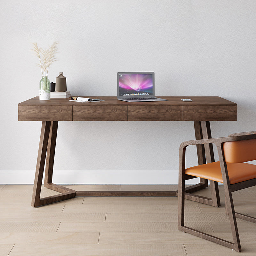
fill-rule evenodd
<path id="1" fill-rule="evenodd" d="M 229 177 L 228 177 L 228 169 L 227 164 L 225 162 L 224 153 L 223 153 L 223 143 L 227 141 L 237 141 L 237 140 L 251 140 L 256 139 L 256 131 L 255 132 L 242 132 L 242 133 L 234 133 L 230 134 L 228 137 L 224 138 L 214 138 L 214 139 L 204 139 L 204 140 L 190 140 L 185 141 L 180 144 L 180 152 L 179 152 L 179 199 L 178 199 L 178 229 L 192 234 L 194 236 L 199 236 L 206 240 L 215 242 L 217 244 L 221 244 L 227 246 L 231 249 L 236 250 L 237 252 L 241 252 L 241 244 L 237 229 L 236 218 L 248 220 L 251 222 L 256 223 L 256 218 L 247 216 L 234 210 L 234 204 L 232 199 L 232 192 L 243 189 L 249 188 L 256 185 L 256 179 L 247 180 L 243 182 L 239 182 L 236 184 L 230 184 Z M 220 168 L 221 174 L 223 179 L 224 191 L 225 191 L 225 213 L 228 214 L 231 231 L 233 236 L 233 243 L 223 240 L 219 237 L 212 236 L 201 232 L 199 230 L 189 228 L 184 226 L 184 201 L 185 201 L 185 180 L 196 178 L 195 176 L 185 174 L 185 152 L 187 146 L 190 145 L 201 145 L 201 144 L 209 144 L 213 143 L 216 145 L 218 149 L 218 155 L 220 160 Z"/>

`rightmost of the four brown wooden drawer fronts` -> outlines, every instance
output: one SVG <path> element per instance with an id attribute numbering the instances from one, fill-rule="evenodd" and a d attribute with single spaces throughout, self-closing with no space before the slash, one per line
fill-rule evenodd
<path id="1" fill-rule="evenodd" d="M 183 106 L 183 121 L 236 121 L 236 106 Z"/>

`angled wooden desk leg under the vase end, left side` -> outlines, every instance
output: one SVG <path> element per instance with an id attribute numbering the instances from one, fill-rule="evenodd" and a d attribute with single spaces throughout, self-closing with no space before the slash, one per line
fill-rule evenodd
<path id="1" fill-rule="evenodd" d="M 65 188 L 52 183 L 52 171 L 53 171 L 57 128 L 58 128 L 57 121 L 42 122 L 42 129 L 41 129 L 37 163 L 36 163 L 35 182 L 34 182 L 32 203 L 31 203 L 33 207 L 41 206 L 44 204 L 51 204 L 54 202 L 66 200 L 76 196 L 75 190 Z M 47 180 L 47 183 L 45 187 L 58 191 L 61 194 L 48 196 L 40 199 L 46 152 L 47 152 L 47 161 L 46 161 L 47 166 L 46 166 L 45 180 Z"/>

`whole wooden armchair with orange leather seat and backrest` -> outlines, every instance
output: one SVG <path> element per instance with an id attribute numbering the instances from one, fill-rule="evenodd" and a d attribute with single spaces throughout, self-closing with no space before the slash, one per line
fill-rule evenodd
<path id="1" fill-rule="evenodd" d="M 187 146 L 206 143 L 213 143 L 217 146 L 219 162 L 185 169 L 185 152 Z M 241 252 L 236 218 L 254 223 L 256 223 L 256 218 L 235 212 L 232 192 L 256 185 L 256 165 L 244 163 L 252 160 L 256 160 L 256 131 L 234 133 L 224 138 L 190 140 L 181 143 L 179 155 L 178 229 Z M 195 177 L 223 183 L 225 191 L 225 213 L 229 216 L 234 242 L 229 242 L 184 226 L 185 180 Z"/>

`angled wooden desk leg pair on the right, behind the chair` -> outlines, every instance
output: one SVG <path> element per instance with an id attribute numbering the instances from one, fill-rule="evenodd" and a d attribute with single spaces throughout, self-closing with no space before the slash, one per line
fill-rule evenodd
<path id="1" fill-rule="evenodd" d="M 194 121 L 196 140 L 210 139 L 211 128 L 209 121 Z M 214 162 L 214 154 L 212 144 L 196 145 L 198 164 L 206 164 Z M 200 183 L 185 188 L 185 198 L 203 204 L 212 206 L 220 206 L 220 196 L 218 182 L 210 180 L 212 198 L 197 196 L 190 193 L 208 187 L 208 180 L 200 178 Z"/>

